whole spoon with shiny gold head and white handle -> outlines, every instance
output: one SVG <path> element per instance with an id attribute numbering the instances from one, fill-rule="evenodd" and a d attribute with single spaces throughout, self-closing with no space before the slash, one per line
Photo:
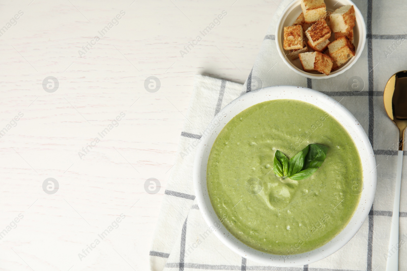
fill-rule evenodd
<path id="1" fill-rule="evenodd" d="M 401 168 L 403 165 L 404 131 L 407 127 L 407 71 L 397 72 L 390 77 L 384 89 L 383 101 L 387 115 L 397 125 L 400 131 L 392 228 L 390 230 L 389 254 L 386 264 L 387 271 L 396 271 L 398 270 L 398 219 L 400 210 Z M 391 256 L 390 251 L 392 251 Z"/>

